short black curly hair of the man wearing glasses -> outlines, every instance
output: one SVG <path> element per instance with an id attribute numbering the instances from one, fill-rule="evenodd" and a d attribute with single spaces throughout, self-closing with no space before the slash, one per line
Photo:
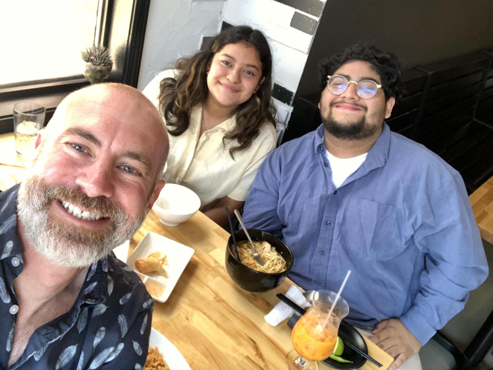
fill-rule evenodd
<path id="1" fill-rule="evenodd" d="M 344 51 L 324 58 L 318 62 L 320 74 L 320 92 L 327 86 L 327 76 L 334 74 L 342 65 L 351 61 L 367 62 L 380 76 L 385 100 L 395 98 L 397 102 L 404 95 L 404 83 L 402 82 L 402 70 L 397 56 L 391 52 L 377 49 L 373 42 L 353 44 Z"/>

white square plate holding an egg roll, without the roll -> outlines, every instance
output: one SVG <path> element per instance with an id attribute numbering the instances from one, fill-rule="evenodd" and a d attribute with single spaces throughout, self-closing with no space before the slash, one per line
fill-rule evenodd
<path id="1" fill-rule="evenodd" d="M 144 275 L 135 268 L 136 259 L 146 258 L 154 252 L 161 252 L 166 255 L 169 266 L 163 266 L 163 268 L 168 272 L 168 278 L 163 278 L 156 272 L 149 272 Z M 176 282 L 194 252 L 192 248 L 186 245 L 149 231 L 142 238 L 134 252 L 128 256 L 127 264 L 141 277 L 152 298 L 163 303 L 166 302 L 173 288 L 175 288 Z"/>

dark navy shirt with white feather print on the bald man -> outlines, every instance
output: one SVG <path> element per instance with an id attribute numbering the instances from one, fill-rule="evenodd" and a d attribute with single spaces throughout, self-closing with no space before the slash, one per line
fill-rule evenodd
<path id="1" fill-rule="evenodd" d="M 36 329 L 22 356 L 7 367 L 22 310 L 13 285 L 24 269 L 16 232 L 18 188 L 0 193 L 0 369 L 141 369 L 154 305 L 137 274 L 113 254 L 89 268 L 70 311 Z"/>

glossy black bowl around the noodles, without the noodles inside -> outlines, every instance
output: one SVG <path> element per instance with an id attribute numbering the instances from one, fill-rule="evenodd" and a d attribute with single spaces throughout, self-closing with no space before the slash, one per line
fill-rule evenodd
<path id="1" fill-rule="evenodd" d="M 291 270 L 293 265 L 293 254 L 289 248 L 278 237 L 257 229 L 247 229 L 251 240 L 266 241 L 270 245 L 276 248 L 276 251 L 286 261 L 286 270 L 278 272 L 276 274 L 268 274 L 265 272 L 258 272 L 249 267 L 246 267 L 243 263 L 239 262 L 232 250 L 235 249 L 233 244 L 233 237 L 229 237 L 228 246 L 226 248 L 226 271 L 228 271 L 231 279 L 242 289 L 248 292 L 267 292 L 271 289 L 278 287 L 282 281 L 286 278 L 287 274 Z M 235 232 L 236 243 L 248 240 L 244 230 L 238 230 Z"/>

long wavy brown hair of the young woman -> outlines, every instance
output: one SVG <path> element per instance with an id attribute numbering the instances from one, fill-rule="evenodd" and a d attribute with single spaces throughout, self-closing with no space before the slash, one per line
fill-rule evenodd
<path id="1" fill-rule="evenodd" d="M 178 77 L 168 77 L 161 81 L 160 110 L 168 121 L 170 135 L 183 134 L 190 125 L 192 109 L 207 100 L 209 89 L 206 71 L 214 55 L 227 44 L 240 42 L 257 50 L 262 63 L 261 78 L 264 77 L 265 80 L 257 92 L 234 111 L 236 127 L 224 135 L 223 144 L 225 140 L 238 141 L 239 146 L 229 149 L 231 157 L 234 158 L 236 151 L 250 148 L 263 125 L 271 124 L 276 127 L 276 108 L 271 99 L 272 54 L 269 43 L 262 32 L 248 26 L 236 26 L 227 28 L 215 36 L 206 50 L 199 51 L 191 57 L 178 59 L 175 65 L 175 68 L 180 70 Z M 174 120 L 170 119 L 172 116 L 175 117 Z"/>

